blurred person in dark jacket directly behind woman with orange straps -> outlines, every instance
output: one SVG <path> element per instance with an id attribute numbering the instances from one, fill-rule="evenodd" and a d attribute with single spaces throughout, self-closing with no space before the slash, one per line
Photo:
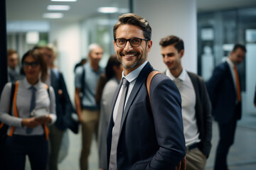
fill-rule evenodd
<path id="1" fill-rule="evenodd" d="M 67 128 L 70 128 L 70 130 L 73 130 L 73 132 L 78 133 L 78 124 L 75 123 L 74 125 L 74 121 L 71 117 L 72 113 L 75 111 L 70 101 L 63 74 L 59 72 L 57 67 L 54 65 L 54 60 L 57 54 L 57 52 L 55 52 L 55 48 L 53 45 L 45 45 L 43 47 L 36 48 L 41 51 L 48 67 L 46 81 L 44 82 L 49 86 L 53 86 L 55 91 L 57 120 L 54 125 L 49 126 L 50 153 L 48 169 L 57 170 L 63 133 Z"/>

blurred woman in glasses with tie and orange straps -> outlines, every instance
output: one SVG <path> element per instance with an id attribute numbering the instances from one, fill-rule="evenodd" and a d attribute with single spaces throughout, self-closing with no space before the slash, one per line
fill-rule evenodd
<path id="1" fill-rule="evenodd" d="M 38 50 L 26 52 L 21 62 L 26 78 L 16 81 L 15 91 L 7 83 L 1 94 L 0 120 L 9 125 L 6 166 L 9 170 L 24 169 L 28 155 L 32 170 L 46 170 L 49 134 L 46 124 L 56 120 L 55 95 L 51 86 L 41 82 L 46 78 L 47 67 Z"/>

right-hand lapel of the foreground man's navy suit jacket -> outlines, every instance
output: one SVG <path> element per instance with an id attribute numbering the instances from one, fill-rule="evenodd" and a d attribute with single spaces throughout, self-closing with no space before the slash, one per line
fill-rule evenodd
<path id="1" fill-rule="evenodd" d="M 146 81 L 145 79 L 147 78 L 147 75 L 149 74 L 149 72 L 151 72 L 153 70 L 153 67 L 151 67 L 151 64 L 149 64 L 149 62 L 145 65 L 145 67 L 142 69 L 142 71 L 139 73 L 139 76 L 137 77 L 135 84 L 133 86 L 132 92 L 129 95 L 127 104 L 124 108 L 124 113 L 122 115 L 122 121 L 121 121 L 121 126 L 120 126 L 120 133 L 121 134 L 121 130 L 122 130 L 122 126 L 124 125 L 124 120 L 127 117 L 127 113 L 129 111 L 129 108 L 132 104 L 132 102 L 134 101 L 135 96 L 137 95 L 139 89 L 141 88 L 142 84 L 144 84 L 144 82 Z"/>

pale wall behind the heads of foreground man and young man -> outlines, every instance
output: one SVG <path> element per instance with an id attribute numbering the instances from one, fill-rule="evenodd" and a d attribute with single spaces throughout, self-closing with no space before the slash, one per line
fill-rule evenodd
<path id="1" fill-rule="evenodd" d="M 148 60 L 155 69 L 164 71 L 159 41 L 166 35 L 183 39 L 183 67 L 197 72 L 196 0 L 134 0 L 134 13 L 146 18 L 152 28 L 153 47 Z"/>

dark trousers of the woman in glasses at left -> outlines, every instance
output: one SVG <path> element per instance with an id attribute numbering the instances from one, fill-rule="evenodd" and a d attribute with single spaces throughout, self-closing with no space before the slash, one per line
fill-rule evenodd
<path id="1" fill-rule="evenodd" d="M 25 169 L 28 155 L 32 170 L 46 170 L 48 141 L 46 135 L 13 135 L 6 139 L 6 166 L 9 170 Z"/>

